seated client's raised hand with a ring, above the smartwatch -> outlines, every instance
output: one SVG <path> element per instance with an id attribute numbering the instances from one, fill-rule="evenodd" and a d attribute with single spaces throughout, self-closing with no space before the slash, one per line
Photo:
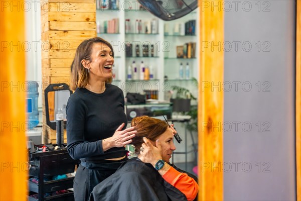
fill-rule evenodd
<path id="1" fill-rule="evenodd" d="M 161 142 L 156 140 L 156 147 L 145 137 L 143 137 L 144 143 L 141 145 L 140 155 L 142 161 L 150 163 L 155 167 L 158 160 L 162 159 Z"/>

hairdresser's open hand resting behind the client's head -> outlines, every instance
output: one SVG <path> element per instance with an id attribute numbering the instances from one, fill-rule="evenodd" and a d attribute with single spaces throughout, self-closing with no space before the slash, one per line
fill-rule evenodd
<path id="1" fill-rule="evenodd" d="M 132 142 L 132 138 L 135 137 L 135 133 L 137 132 L 135 127 L 130 127 L 124 129 L 124 123 L 122 123 L 115 131 L 114 135 L 110 138 L 106 138 L 102 140 L 102 148 L 103 151 L 106 151 L 113 147 L 123 147 Z"/>

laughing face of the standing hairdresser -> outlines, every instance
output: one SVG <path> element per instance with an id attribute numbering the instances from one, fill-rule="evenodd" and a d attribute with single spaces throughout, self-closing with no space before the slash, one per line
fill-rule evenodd
<path id="1" fill-rule="evenodd" d="M 89 76 L 105 81 L 112 77 L 112 66 L 114 64 L 113 52 L 104 43 L 94 43 L 89 63 Z"/>

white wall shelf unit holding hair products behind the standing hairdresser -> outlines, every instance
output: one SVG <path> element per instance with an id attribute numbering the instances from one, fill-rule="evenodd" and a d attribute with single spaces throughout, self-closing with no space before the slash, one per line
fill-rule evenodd
<path id="1" fill-rule="evenodd" d="M 113 81 L 113 84 L 117 85 L 124 91 L 124 95 L 127 92 L 136 92 L 143 93 L 143 89 L 146 90 L 158 90 L 159 91 L 159 99 L 164 99 L 165 91 L 169 90 L 172 85 L 183 85 L 184 80 L 178 80 L 179 78 L 179 67 L 180 63 L 183 63 L 184 72 L 186 63 L 189 62 L 190 65 L 190 75 L 194 76 L 198 79 L 198 71 L 199 71 L 199 58 L 177 58 L 176 55 L 176 46 L 184 45 L 189 42 L 198 42 L 198 37 L 196 37 L 198 33 L 198 29 L 196 30 L 195 35 L 174 35 L 172 30 L 175 23 L 187 22 L 189 20 L 196 20 L 196 26 L 198 23 L 198 9 L 180 19 L 174 21 L 163 21 L 156 16 L 152 15 L 148 11 L 145 10 L 134 10 L 137 9 L 136 4 L 130 5 L 131 2 L 127 2 L 127 4 L 122 4 L 118 10 L 104 10 L 99 9 L 96 10 L 96 22 L 98 24 L 102 24 L 103 21 L 111 20 L 114 18 L 119 19 L 119 34 L 108 34 L 108 33 L 99 33 L 97 34 L 99 37 L 104 38 L 109 41 L 115 53 L 115 68 L 117 69 L 117 77 L 116 80 Z M 130 6 L 134 9 L 130 9 Z M 136 19 L 144 21 L 150 21 L 152 19 L 158 20 L 158 33 L 155 34 L 145 34 L 145 33 L 125 33 L 125 20 L 130 19 L 131 22 L 135 22 Z M 171 27 L 168 35 L 164 33 L 164 25 L 168 23 Z M 132 28 L 134 27 L 134 23 L 132 23 Z M 131 29 L 133 30 L 133 29 Z M 135 57 L 134 55 L 134 46 L 132 47 L 133 56 L 126 57 L 125 56 L 125 43 L 130 42 L 132 44 L 140 45 L 140 57 Z M 155 56 L 154 57 L 141 57 L 141 46 L 142 44 L 154 44 L 155 48 Z M 196 45 L 196 55 L 198 55 L 198 45 Z M 139 66 L 140 62 L 147 66 L 152 65 L 155 68 L 155 79 L 153 80 L 127 80 L 127 69 L 128 66 L 135 61 L 136 66 Z M 139 70 L 139 68 L 138 68 Z M 113 69 L 114 71 L 114 69 Z M 168 76 L 168 80 L 165 81 L 165 76 Z M 185 78 L 185 76 L 184 76 Z M 171 83 L 169 83 L 171 81 Z M 139 83 L 137 83 L 139 82 Z M 167 83 L 168 82 L 168 83 Z M 191 82 L 186 81 L 186 87 L 188 89 L 195 91 L 197 95 L 197 88 L 192 86 Z M 150 86 L 148 86 L 149 84 Z M 147 88 L 145 88 L 147 86 Z M 150 87 L 150 88 L 149 88 Z"/>

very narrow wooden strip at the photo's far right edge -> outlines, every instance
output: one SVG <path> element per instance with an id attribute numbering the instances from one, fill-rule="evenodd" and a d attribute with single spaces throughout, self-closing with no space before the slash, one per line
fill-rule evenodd
<path id="1" fill-rule="evenodd" d="M 296 189 L 301 200 L 301 0 L 296 3 Z"/>

